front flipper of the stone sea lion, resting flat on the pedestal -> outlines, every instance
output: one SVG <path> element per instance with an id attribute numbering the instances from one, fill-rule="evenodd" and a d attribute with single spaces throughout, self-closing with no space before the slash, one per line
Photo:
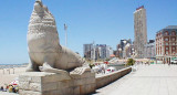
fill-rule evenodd
<path id="1" fill-rule="evenodd" d="M 41 72 L 50 72 L 50 73 L 59 73 L 59 74 L 67 74 L 69 73 L 66 71 L 63 71 L 63 70 L 58 70 L 58 68 L 53 68 L 50 64 L 48 64 L 46 62 L 43 63 L 42 66 L 39 66 L 39 70 Z"/>

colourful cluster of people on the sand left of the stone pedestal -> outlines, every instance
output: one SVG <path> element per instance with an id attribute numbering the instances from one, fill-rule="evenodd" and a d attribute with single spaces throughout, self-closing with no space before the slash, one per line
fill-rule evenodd
<path id="1" fill-rule="evenodd" d="M 1 86 L 1 92 L 9 92 L 9 93 L 19 93 L 19 86 L 18 85 L 7 85 L 6 88 Z"/>

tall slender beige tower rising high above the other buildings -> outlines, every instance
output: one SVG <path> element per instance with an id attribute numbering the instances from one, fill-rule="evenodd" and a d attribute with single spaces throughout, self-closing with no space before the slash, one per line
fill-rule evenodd
<path id="1" fill-rule="evenodd" d="M 144 6 L 137 8 L 134 12 L 134 32 L 136 57 L 143 59 L 145 45 L 147 44 L 146 9 L 144 9 Z"/>

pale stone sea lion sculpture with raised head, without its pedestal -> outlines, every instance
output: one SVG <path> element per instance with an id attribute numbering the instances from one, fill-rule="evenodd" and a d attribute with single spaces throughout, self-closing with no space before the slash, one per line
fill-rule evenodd
<path id="1" fill-rule="evenodd" d="M 41 0 L 35 1 L 31 14 L 28 48 L 30 62 L 27 72 L 67 73 L 84 63 L 79 54 L 60 45 L 55 20 Z"/>

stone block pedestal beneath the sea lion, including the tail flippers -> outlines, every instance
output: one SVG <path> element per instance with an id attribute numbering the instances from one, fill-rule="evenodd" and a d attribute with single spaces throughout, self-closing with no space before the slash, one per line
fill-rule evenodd
<path id="1" fill-rule="evenodd" d="M 20 95 L 85 95 L 95 92 L 95 74 L 77 67 L 70 75 L 28 72 L 19 76 Z"/>

